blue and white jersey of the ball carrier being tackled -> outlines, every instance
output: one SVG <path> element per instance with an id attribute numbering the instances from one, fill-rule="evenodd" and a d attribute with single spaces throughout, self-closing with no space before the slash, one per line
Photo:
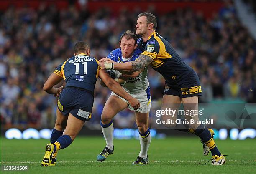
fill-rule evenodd
<path id="1" fill-rule="evenodd" d="M 108 58 L 112 59 L 115 62 L 129 62 L 129 61 L 134 61 L 136 60 L 136 58 L 138 58 L 138 56 L 141 54 L 141 50 L 136 49 L 133 53 L 133 56 L 131 58 L 128 59 L 123 59 L 122 58 L 122 53 L 121 53 L 121 49 L 115 49 L 113 51 L 111 51 L 108 54 Z M 128 93 L 138 93 L 141 91 L 146 91 L 146 89 L 149 86 L 148 83 L 148 67 L 145 68 L 144 71 L 142 71 L 137 77 L 135 78 L 128 78 L 126 83 L 123 85 L 123 88 L 125 89 L 125 91 L 127 91 Z"/>

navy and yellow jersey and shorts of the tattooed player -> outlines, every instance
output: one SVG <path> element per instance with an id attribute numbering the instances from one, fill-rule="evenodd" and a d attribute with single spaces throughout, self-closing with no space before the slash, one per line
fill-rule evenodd
<path id="1" fill-rule="evenodd" d="M 165 94 L 190 97 L 202 95 L 195 71 L 187 65 L 161 35 L 153 32 L 146 42 L 138 39 L 138 48 L 154 61 L 150 64 L 166 80 Z"/>

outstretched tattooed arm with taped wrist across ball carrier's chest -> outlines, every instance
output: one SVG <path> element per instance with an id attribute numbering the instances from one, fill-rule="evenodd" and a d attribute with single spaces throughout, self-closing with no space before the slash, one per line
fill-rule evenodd
<path id="1" fill-rule="evenodd" d="M 153 59 L 147 55 L 141 54 L 135 61 L 125 63 L 102 63 L 100 66 L 106 69 L 125 70 L 125 71 L 143 71 Z"/>

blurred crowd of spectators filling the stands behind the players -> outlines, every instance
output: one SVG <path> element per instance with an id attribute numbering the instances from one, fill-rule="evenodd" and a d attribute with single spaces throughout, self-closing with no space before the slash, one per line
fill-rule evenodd
<path id="1" fill-rule="evenodd" d="M 200 103 L 239 100 L 256 103 L 256 41 L 236 16 L 232 3 L 206 20 L 192 9 L 177 9 L 158 15 L 156 31 L 200 77 Z M 83 40 L 97 59 L 119 48 L 120 35 L 135 31 L 139 8 L 121 8 L 113 15 L 108 8 L 89 13 L 86 5 L 58 10 L 42 3 L 38 9 L 10 6 L 0 15 L 0 116 L 1 126 L 52 128 L 56 101 L 42 90 L 54 69 L 73 56 L 73 46 Z M 161 103 L 165 81 L 149 68 L 151 101 Z M 100 114 L 110 91 L 97 82 L 92 120 L 86 124 L 100 129 Z M 115 117 L 115 126 L 133 127 L 134 113 L 125 110 Z"/>

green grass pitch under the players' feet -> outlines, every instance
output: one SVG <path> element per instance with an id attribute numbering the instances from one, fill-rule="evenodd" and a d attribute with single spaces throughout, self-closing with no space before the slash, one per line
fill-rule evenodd
<path id="1" fill-rule="evenodd" d="M 115 151 L 104 162 L 96 160 L 105 146 L 103 137 L 79 136 L 71 146 L 59 151 L 56 166 L 41 167 L 49 140 L 7 140 L 1 138 L 1 174 L 253 174 L 256 173 L 256 139 L 215 140 L 226 154 L 223 166 L 211 166 L 211 156 L 203 156 L 196 136 L 152 139 L 149 164 L 133 166 L 140 145 L 136 139 L 114 140 Z M 28 171 L 4 171 L 3 166 L 28 166 Z"/>

